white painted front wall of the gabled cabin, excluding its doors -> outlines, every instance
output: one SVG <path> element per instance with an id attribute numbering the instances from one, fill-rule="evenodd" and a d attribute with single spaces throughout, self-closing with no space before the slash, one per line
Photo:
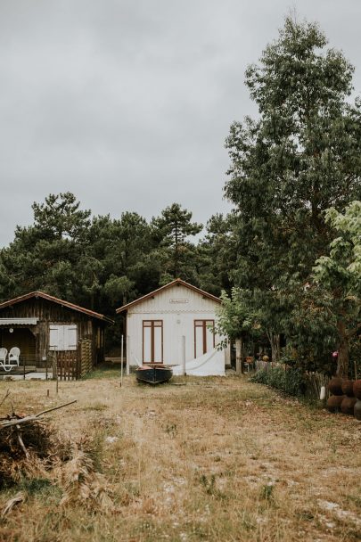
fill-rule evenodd
<path id="1" fill-rule="evenodd" d="M 148 298 L 127 311 L 127 356 L 129 365 L 143 363 L 143 321 L 163 321 L 163 363 L 182 365 L 182 336 L 185 336 L 185 361 L 194 359 L 194 320 L 215 320 L 217 301 L 175 284 L 154 298 Z M 216 345 L 219 337 L 216 335 Z M 217 374 L 224 373 L 226 352 L 217 355 Z M 213 357 L 214 359 L 214 357 Z M 203 371 L 204 371 L 203 366 Z M 214 373 L 209 373 L 214 374 Z"/>

